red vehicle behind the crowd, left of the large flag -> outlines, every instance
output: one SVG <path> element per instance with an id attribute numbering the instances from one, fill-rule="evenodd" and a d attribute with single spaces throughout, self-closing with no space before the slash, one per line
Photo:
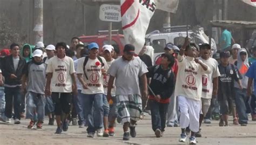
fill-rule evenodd
<path id="1" fill-rule="evenodd" d="M 85 45 L 95 42 L 99 45 L 99 52 L 102 53 L 102 46 L 109 43 L 109 31 L 99 31 L 98 35 L 93 36 L 80 36 L 79 39 Z M 111 45 L 119 49 L 120 54 L 123 54 L 125 40 L 124 35 L 119 34 L 118 30 L 112 30 Z"/>

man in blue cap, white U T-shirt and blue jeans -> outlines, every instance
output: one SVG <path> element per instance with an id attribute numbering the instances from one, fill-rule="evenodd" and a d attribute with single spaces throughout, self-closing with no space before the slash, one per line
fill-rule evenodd
<path id="1" fill-rule="evenodd" d="M 81 82 L 84 97 L 84 111 L 88 123 L 87 137 L 103 136 L 103 75 L 109 68 L 106 60 L 98 56 L 99 46 L 91 43 L 88 46 L 89 56 L 80 58 L 77 65 L 77 76 Z M 84 77 L 83 77 L 84 74 Z M 94 110 L 92 112 L 92 105 Z M 93 116 L 95 115 L 95 116 Z"/>

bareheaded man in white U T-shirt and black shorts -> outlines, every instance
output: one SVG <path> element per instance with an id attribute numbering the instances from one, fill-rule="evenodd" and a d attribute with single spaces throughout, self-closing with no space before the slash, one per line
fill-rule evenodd
<path id="1" fill-rule="evenodd" d="M 56 134 L 68 130 L 68 117 L 71 105 L 71 92 L 77 94 L 77 84 L 75 78 L 75 68 L 73 59 L 65 55 L 65 43 L 56 44 L 57 55 L 51 58 L 46 69 L 47 81 L 45 95 L 51 95 L 55 103 L 55 115 L 57 122 Z M 73 88 L 72 88 L 73 87 Z M 64 112 L 63 120 L 60 115 Z"/>

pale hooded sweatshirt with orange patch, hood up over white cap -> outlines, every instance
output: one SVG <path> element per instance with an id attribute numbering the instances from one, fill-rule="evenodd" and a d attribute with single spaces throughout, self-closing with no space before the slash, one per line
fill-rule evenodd
<path id="1" fill-rule="evenodd" d="M 241 52 L 246 52 L 245 61 L 241 60 L 241 57 L 240 57 Z M 238 51 L 238 57 L 237 57 L 237 61 L 236 61 L 235 65 L 237 66 L 237 69 L 242 77 L 242 79 L 241 79 L 242 88 L 247 88 L 248 77 L 246 77 L 245 74 L 248 71 L 248 68 L 250 67 L 250 65 L 249 65 L 249 60 L 248 60 L 248 54 L 245 49 L 240 49 Z M 239 88 L 238 82 L 234 83 L 234 87 Z"/>

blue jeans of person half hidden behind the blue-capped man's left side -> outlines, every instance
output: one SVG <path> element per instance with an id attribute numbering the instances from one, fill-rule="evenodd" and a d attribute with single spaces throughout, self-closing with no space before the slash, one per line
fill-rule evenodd
<path id="1" fill-rule="evenodd" d="M 76 103 L 76 111 L 78 114 L 78 125 L 82 125 L 82 123 L 85 123 L 86 121 L 86 114 L 85 114 L 85 96 L 84 94 L 81 93 L 81 90 L 78 89 L 78 94 L 75 97 Z"/>

